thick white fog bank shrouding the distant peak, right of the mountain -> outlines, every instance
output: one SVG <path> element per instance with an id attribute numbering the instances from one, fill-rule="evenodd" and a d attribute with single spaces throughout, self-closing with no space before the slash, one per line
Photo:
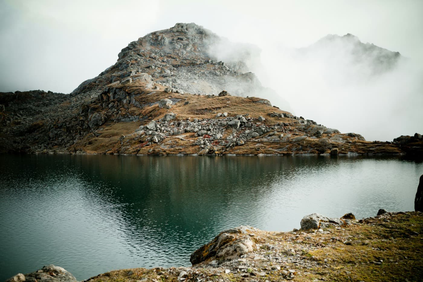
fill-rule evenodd
<path id="1" fill-rule="evenodd" d="M 357 36 L 328 35 L 303 48 L 214 47 L 222 60 L 250 47 L 247 66 L 277 96 L 273 105 L 368 141 L 423 132 L 423 68 Z M 220 52 L 220 53 L 219 53 Z M 291 108 L 284 107 L 284 100 Z M 285 104 L 286 105 L 286 104 Z"/>

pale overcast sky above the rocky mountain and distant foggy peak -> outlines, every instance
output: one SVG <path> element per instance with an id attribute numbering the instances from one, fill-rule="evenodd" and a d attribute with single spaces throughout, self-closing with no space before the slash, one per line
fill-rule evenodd
<path id="1" fill-rule="evenodd" d="M 176 22 L 195 22 L 231 41 L 256 44 L 264 54 L 269 47 L 305 47 L 327 34 L 352 33 L 423 65 L 421 0 L 0 3 L 0 91 L 69 93 L 113 65 L 129 42 Z M 294 111 L 304 115 L 301 108 Z"/>

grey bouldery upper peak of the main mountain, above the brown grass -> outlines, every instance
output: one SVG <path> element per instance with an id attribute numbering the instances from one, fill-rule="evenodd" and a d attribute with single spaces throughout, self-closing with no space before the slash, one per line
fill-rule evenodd
<path id="1" fill-rule="evenodd" d="M 222 90 L 236 96 L 269 92 L 249 72 L 249 52 L 234 44 L 227 61 L 217 51 L 228 42 L 195 23 L 177 23 L 165 30 L 148 33 L 128 44 L 118 61 L 99 76 L 80 84 L 72 96 L 97 97 L 123 83 L 146 82 L 146 87 L 169 92 L 217 95 Z M 238 48 L 238 49 L 237 49 Z"/>

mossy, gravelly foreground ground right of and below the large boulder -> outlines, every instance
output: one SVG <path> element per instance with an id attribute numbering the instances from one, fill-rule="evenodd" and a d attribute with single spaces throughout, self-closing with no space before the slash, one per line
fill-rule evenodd
<path id="1" fill-rule="evenodd" d="M 325 232 L 254 234 L 240 260 L 191 268 L 110 271 L 92 282 L 422 281 L 423 213 L 392 213 Z M 278 257 L 277 260 L 272 258 Z M 243 265 L 249 265 L 243 266 Z M 225 273 L 229 268 L 230 272 Z M 186 271 L 183 276 L 180 274 Z"/>

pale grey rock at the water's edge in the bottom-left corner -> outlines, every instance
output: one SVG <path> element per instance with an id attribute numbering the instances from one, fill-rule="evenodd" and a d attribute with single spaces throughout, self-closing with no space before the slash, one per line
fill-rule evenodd
<path id="1" fill-rule="evenodd" d="M 28 274 L 16 274 L 6 282 L 76 282 L 77 279 L 64 268 L 55 265 L 47 265 L 37 271 Z"/>

